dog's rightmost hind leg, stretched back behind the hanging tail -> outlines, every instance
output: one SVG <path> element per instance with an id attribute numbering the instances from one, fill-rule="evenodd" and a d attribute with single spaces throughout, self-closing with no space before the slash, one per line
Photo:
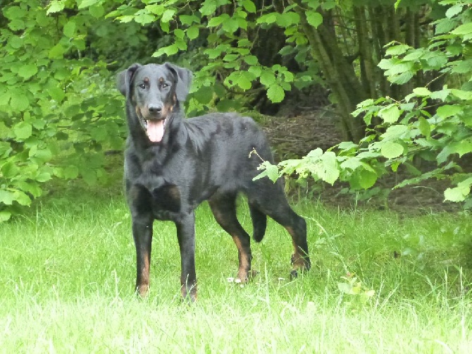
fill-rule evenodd
<path id="1" fill-rule="evenodd" d="M 288 205 L 280 182 L 274 184 L 268 180 L 260 181 L 249 189 L 247 196 L 250 205 L 271 216 L 290 233 L 294 248 L 292 277 L 297 276 L 297 271 L 310 269 L 311 262 L 306 242 L 306 221 Z"/>

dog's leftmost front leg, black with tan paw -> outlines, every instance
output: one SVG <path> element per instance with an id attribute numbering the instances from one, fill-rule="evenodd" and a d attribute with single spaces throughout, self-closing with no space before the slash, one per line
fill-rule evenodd
<path id="1" fill-rule="evenodd" d="M 151 264 L 152 221 L 132 222 L 132 236 L 136 246 L 136 288 L 143 298 L 149 291 L 149 266 Z"/>

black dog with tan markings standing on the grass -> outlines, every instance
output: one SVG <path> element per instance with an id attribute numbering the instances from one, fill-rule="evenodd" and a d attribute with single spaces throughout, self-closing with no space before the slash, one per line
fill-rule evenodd
<path id="1" fill-rule="evenodd" d="M 207 114 L 182 119 L 180 104 L 189 92 L 192 73 L 170 63 L 135 64 L 118 75 L 126 97 L 129 136 L 125 152 L 125 188 L 137 253 L 136 290 L 149 288 L 152 225 L 155 219 L 177 226 L 182 296 L 197 298 L 194 209 L 209 200 L 218 224 L 235 241 L 237 276 L 251 272 L 249 235 L 237 221 L 238 192 L 247 195 L 254 225 L 262 240 L 271 216 L 292 236 L 292 275 L 309 269 L 306 223 L 287 204 L 281 183 L 253 181 L 261 158 L 272 161 L 271 149 L 251 118 L 237 114 Z M 260 157 L 250 152 L 255 149 Z"/>

